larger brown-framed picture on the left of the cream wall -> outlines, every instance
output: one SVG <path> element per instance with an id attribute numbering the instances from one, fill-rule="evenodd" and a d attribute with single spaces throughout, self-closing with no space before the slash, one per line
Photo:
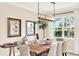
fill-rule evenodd
<path id="1" fill-rule="evenodd" d="M 8 18 L 8 37 L 21 36 L 21 19 Z"/>

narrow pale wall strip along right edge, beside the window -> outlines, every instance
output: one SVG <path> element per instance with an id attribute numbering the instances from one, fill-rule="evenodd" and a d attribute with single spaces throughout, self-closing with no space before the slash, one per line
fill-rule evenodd
<path id="1" fill-rule="evenodd" d="M 75 19 L 76 19 L 76 22 L 75 22 L 76 40 L 74 41 L 75 42 L 75 50 L 74 51 L 76 54 L 79 54 L 79 10 L 75 10 L 74 15 L 75 15 Z"/>

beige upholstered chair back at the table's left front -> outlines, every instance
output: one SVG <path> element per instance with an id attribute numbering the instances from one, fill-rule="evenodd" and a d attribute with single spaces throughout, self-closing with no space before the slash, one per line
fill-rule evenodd
<path id="1" fill-rule="evenodd" d="M 19 46 L 20 56 L 30 56 L 30 49 L 27 45 Z"/>

